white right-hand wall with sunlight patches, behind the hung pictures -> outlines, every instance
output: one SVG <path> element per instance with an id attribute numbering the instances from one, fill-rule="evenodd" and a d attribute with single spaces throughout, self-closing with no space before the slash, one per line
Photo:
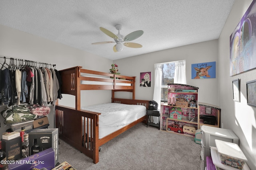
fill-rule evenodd
<path id="1" fill-rule="evenodd" d="M 237 0 L 219 38 L 219 105 L 223 128 L 232 129 L 240 139 L 250 169 L 256 169 L 256 108 L 246 104 L 246 82 L 256 79 L 256 70 L 229 76 L 230 35 L 252 3 Z M 233 101 L 232 80 L 240 79 L 240 102 Z"/>

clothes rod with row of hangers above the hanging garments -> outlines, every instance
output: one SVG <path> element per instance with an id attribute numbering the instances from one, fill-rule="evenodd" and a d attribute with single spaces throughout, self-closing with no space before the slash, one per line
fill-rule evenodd
<path id="1" fill-rule="evenodd" d="M 48 67 L 48 66 L 53 66 L 53 68 L 55 68 L 56 64 L 48 64 L 48 63 L 42 63 L 42 62 L 36 62 L 36 61 L 30 61 L 30 60 L 23 60 L 23 59 L 14 59 L 14 58 L 7 58 L 7 57 L 2 57 L 0 56 L 0 58 L 4 59 L 4 63 L 0 63 L 2 64 L 2 68 L 5 67 L 4 65 L 6 64 L 8 67 L 16 67 L 18 64 L 19 65 L 28 65 L 28 66 L 37 66 L 37 64 L 40 64 L 39 67 L 42 64 L 42 67 Z M 10 64 L 8 65 L 6 63 L 6 59 L 10 60 Z M 15 63 L 14 63 L 15 60 Z M 17 63 L 18 62 L 18 63 Z M 1 68 L 1 69 L 2 69 Z"/>

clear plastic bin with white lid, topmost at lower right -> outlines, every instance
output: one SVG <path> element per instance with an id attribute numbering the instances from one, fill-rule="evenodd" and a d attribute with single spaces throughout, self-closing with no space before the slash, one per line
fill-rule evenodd
<path id="1" fill-rule="evenodd" d="M 232 166 L 237 169 L 243 169 L 247 159 L 237 144 L 217 139 L 215 142 L 222 164 Z"/>

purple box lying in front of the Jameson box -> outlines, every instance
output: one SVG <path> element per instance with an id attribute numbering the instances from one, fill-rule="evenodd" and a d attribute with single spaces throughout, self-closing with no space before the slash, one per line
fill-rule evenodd
<path id="1" fill-rule="evenodd" d="M 31 170 L 32 168 L 46 168 L 52 170 L 55 167 L 55 153 L 52 148 L 46 149 L 38 154 L 33 154 L 27 158 L 16 160 L 14 164 L 8 165 L 8 170 Z"/>

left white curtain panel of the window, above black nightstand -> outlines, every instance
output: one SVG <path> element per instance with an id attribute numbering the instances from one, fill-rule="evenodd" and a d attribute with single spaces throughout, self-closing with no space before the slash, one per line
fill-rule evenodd
<path id="1" fill-rule="evenodd" d="M 162 64 L 155 64 L 155 82 L 153 100 L 158 103 L 158 109 L 161 108 L 161 84 L 162 84 Z M 159 122 L 159 117 L 152 116 L 153 123 Z"/>

